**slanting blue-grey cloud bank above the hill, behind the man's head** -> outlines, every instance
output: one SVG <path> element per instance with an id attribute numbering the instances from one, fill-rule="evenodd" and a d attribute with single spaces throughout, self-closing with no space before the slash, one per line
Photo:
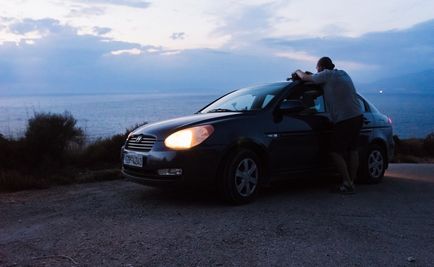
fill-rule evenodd
<path id="1" fill-rule="evenodd" d="M 298 61 L 330 56 L 338 68 L 356 71 L 359 78 L 422 71 L 434 66 L 434 20 L 405 30 L 375 32 L 360 37 L 291 40 L 266 38 L 262 45 L 277 55 Z M 375 75 L 374 75 L 375 74 Z"/>

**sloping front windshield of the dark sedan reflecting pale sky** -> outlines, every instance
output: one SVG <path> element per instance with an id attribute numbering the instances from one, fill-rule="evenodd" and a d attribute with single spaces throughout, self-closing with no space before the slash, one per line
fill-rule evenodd
<path id="1" fill-rule="evenodd" d="M 266 108 L 286 85 L 288 83 L 273 83 L 239 89 L 218 99 L 200 113 L 261 110 Z"/>

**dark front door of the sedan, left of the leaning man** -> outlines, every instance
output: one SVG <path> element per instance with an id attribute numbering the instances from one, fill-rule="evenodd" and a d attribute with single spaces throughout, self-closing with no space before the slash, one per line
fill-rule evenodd
<path id="1" fill-rule="evenodd" d="M 330 126 L 319 87 L 299 85 L 282 101 L 300 100 L 304 110 L 292 114 L 275 112 L 276 133 L 270 146 L 274 174 L 313 171 L 324 150 L 324 132 Z"/>

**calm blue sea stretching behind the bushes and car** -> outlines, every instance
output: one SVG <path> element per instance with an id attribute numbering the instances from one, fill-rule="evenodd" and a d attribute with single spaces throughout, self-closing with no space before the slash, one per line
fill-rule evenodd
<path id="1" fill-rule="evenodd" d="M 400 138 L 424 138 L 434 132 L 434 95 L 363 96 L 392 119 Z M 0 134 L 19 138 L 35 113 L 70 112 L 87 140 L 124 133 L 134 125 L 195 113 L 219 94 L 141 93 L 0 96 Z"/>

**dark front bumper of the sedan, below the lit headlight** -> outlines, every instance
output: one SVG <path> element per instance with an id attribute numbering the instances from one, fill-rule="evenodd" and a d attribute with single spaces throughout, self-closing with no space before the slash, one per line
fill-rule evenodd
<path id="1" fill-rule="evenodd" d="M 143 167 L 122 164 L 122 174 L 128 180 L 149 186 L 203 186 L 213 185 L 221 162 L 220 146 L 198 146 L 189 150 L 174 151 L 157 141 L 149 152 L 122 148 L 121 160 L 126 153 L 143 156 Z M 179 175 L 161 175 L 158 170 L 181 169 Z"/>

